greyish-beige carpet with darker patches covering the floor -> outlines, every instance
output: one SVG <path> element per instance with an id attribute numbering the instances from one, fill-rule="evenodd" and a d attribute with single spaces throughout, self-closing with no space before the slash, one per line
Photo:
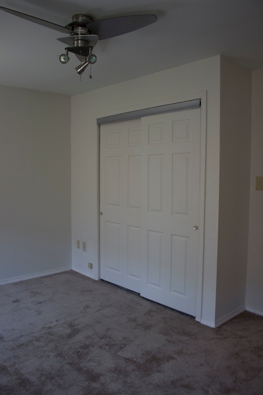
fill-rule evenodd
<path id="1" fill-rule="evenodd" d="M 0 395 L 262 395 L 263 317 L 218 329 L 73 271 L 0 286 Z"/>

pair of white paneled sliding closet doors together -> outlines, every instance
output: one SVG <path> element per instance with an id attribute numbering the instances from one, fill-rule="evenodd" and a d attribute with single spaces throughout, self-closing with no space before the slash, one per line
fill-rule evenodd
<path id="1" fill-rule="evenodd" d="M 195 316 L 200 110 L 102 125 L 100 166 L 101 278 Z"/>

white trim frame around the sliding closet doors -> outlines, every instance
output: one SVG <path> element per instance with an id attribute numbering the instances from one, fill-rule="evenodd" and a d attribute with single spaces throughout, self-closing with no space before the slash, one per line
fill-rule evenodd
<path id="1" fill-rule="evenodd" d="M 196 321 L 201 322 L 202 317 L 202 290 L 203 290 L 203 250 L 204 250 L 204 204 L 205 204 L 205 163 L 206 163 L 206 96 L 207 91 L 197 92 L 189 95 L 176 96 L 167 98 L 165 100 L 158 100 L 154 102 L 145 102 L 138 105 L 133 105 L 125 108 L 115 109 L 114 111 L 102 112 L 95 115 L 94 130 L 95 130 L 95 243 L 97 249 L 97 273 L 95 279 L 100 279 L 100 125 L 97 124 L 97 119 L 125 114 L 131 111 L 144 110 L 151 107 L 158 107 L 161 105 L 168 105 L 174 103 L 181 103 L 190 100 L 201 100 L 200 106 L 200 222 L 199 222 L 199 257 L 198 257 L 198 275 L 196 284 Z M 180 110 L 179 110 L 180 111 Z M 182 110 L 183 111 L 183 110 Z"/>

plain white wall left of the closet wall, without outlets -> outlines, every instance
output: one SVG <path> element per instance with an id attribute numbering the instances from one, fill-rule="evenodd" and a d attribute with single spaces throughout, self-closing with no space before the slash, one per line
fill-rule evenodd
<path id="1" fill-rule="evenodd" d="M 70 98 L 1 86 L 0 119 L 0 283 L 70 268 Z"/>

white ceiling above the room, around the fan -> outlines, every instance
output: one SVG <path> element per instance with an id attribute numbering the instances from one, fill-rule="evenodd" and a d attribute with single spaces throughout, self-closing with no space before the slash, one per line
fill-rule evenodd
<path id="1" fill-rule="evenodd" d="M 76 95 L 209 58 L 229 56 L 263 68 L 262 0 L 0 0 L 0 6 L 65 26 L 76 13 L 93 19 L 151 13 L 158 21 L 99 41 L 98 61 L 80 76 L 79 60 L 61 64 L 66 34 L 0 11 L 0 84 Z"/>

